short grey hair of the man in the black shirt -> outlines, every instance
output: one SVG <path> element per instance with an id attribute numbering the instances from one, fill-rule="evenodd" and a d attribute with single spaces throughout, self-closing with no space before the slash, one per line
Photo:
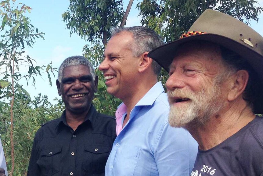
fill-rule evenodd
<path id="1" fill-rule="evenodd" d="M 83 56 L 71 56 L 66 58 L 59 67 L 59 75 L 58 75 L 59 82 L 61 82 L 61 79 L 63 77 L 64 68 L 69 66 L 79 66 L 79 65 L 87 66 L 89 68 L 93 80 L 95 80 L 95 70 L 92 64 L 89 62 L 89 60 Z"/>

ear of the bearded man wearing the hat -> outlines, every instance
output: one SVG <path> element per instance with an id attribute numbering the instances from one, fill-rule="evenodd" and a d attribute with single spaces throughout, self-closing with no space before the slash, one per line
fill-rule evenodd
<path id="1" fill-rule="evenodd" d="M 232 83 L 227 96 L 229 101 L 235 100 L 240 94 L 242 94 L 242 92 L 244 92 L 249 78 L 247 70 L 238 70 L 232 76 Z"/>

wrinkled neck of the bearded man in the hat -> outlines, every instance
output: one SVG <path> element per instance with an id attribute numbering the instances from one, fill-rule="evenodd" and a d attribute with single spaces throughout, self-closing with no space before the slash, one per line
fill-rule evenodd
<path id="1" fill-rule="evenodd" d="M 187 126 L 186 129 L 198 142 L 201 150 L 208 150 L 237 133 L 254 118 L 255 115 L 246 106 L 241 110 L 226 110 L 225 113 L 210 118 L 202 126 Z"/>

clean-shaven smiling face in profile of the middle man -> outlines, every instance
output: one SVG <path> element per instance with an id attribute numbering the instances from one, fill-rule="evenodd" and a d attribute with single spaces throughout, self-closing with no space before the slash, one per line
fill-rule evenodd
<path id="1" fill-rule="evenodd" d="M 99 66 L 106 80 L 107 92 L 117 98 L 125 99 L 136 90 L 139 57 L 132 55 L 130 48 L 133 36 L 130 32 L 120 32 L 111 37 L 104 51 L 104 60 Z"/>

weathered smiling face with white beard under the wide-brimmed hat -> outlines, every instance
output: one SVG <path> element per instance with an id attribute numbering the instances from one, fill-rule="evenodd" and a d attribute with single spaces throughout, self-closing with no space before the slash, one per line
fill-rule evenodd
<path id="1" fill-rule="evenodd" d="M 202 125 L 225 107 L 227 86 L 222 84 L 221 53 L 215 46 L 191 46 L 174 58 L 166 82 L 170 103 L 169 123 Z"/>

